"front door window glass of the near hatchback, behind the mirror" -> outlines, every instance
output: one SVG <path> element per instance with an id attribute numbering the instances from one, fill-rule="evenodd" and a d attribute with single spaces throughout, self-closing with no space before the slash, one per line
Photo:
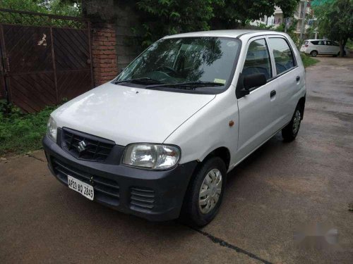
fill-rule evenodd
<path id="1" fill-rule="evenodd" d="M 270 54 L 265 39 L 256 39 L 249 44 L 243 68 L 243 76 L 263 73 L 266 80 L 272 78 Z"/>

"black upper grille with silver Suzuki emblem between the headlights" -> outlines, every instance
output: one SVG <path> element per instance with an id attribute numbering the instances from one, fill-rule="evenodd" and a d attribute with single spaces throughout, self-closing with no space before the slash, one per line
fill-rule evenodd
<path id="1" fill-rule="evenodd" d="M 114 147 L 114 142 L 90 134 L 63 128 L 62 147 L 75 158 L 104 162 Z M 80 148 L 80 145 L 83 148 Z"/>

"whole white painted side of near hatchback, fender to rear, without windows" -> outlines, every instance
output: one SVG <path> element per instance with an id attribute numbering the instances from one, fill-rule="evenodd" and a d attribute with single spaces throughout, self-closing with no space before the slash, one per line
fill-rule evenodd
<path id="1" fill-rule="evenodd" d="M 285 37 L 290 43 L 297 67 L 254 90 L 253 94 L 257 94 L 257 99 L 251 105 L 246 103 L 246 96 L 241 99 L 235 96 L 239 75 L 244 65 L 247 43 L 254 37 L 266 37 L 268 34 L 269 32 L 256 32 L 240 37 L 243 45 L 231 87 L 222 94 L 217 94 L 213 101 L 177 127 L 164 140 L 164 144 L 177 144 L 181 147 L 180 163 L 203 161 L 215 149 L 225 147 L 229 149 L 231 155 L 229 170 L 232 170 L 290 121 L 299 99 L 305 96 L 305 71 L 299 51 L 287 34 L 271 32 L 273 36 Z M 300 77 L 299 82 L 297 82 L 297 76 Z M 278 90 L 277 96 L 281 100 L 270 101 L 272 89 Z M 268 106 L 263 105 L 263 100 L 266 98 L 270 102 Z M 246 115 L 242 117 L 244 120 L 239 119 L 241 107 L 247 108 Z M 269 116 L 268 119 L 266 115 Z M 234 121 L 232 127 L 229 127 L 229 121 Z M 249 130 L 257 132 L 247 141 L 242 141 L 242 137 L 249 133 Z"/>

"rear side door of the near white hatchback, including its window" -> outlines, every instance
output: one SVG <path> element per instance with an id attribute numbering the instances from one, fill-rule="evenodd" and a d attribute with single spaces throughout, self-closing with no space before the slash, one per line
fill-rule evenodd
<path id="1" fill-rule="evenodd" d="M 298 67 L 294 48 L 282 36 L 268 37 L 271 56 L 275 61 L 277 91 L 277 130 L 287 125 L 297 106 L 298 93 L 304 85 L 304 70 Z"/>

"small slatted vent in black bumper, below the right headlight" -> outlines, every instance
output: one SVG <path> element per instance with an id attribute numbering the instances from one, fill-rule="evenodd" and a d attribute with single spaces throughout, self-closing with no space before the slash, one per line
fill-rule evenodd
<path id="1" fill-rule="evenodd" d="M 155 203 L 155 191 L 143 187 L 131 187 L 130 204 L 139 208 L 152 209 Z"/>

